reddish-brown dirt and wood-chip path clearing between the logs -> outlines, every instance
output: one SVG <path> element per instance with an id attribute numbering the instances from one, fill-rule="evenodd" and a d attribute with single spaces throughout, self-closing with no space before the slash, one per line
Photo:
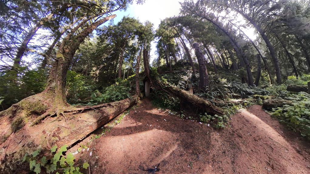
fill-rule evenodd
<path id="1" fill-rule="evenodd" d="M 82 143 L 82 142 L 81 142 Z M 76 155 L 91 173 L 310 173 L 310 142 L 253 105 L 214 129 L 144 99 L 120 124 Z"/>

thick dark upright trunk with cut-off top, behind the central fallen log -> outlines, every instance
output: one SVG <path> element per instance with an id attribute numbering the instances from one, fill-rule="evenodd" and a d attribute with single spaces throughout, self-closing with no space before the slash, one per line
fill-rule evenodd
<path id="1" fill-rule="evenodd" d="M 204 91 L 206 90 L 206 87 L 209 86 L 209 76 L 208 76 L 208 70 L 205 64 L 205 58 L 201 52 L 201 49 L 199 47 L 199 44 L 195 42 L 193 44 L 193 47 L 195 49 L 195 54 L 198 61 L 199 66 L 199 85 L 198 85 L 198 91 Z"/>

